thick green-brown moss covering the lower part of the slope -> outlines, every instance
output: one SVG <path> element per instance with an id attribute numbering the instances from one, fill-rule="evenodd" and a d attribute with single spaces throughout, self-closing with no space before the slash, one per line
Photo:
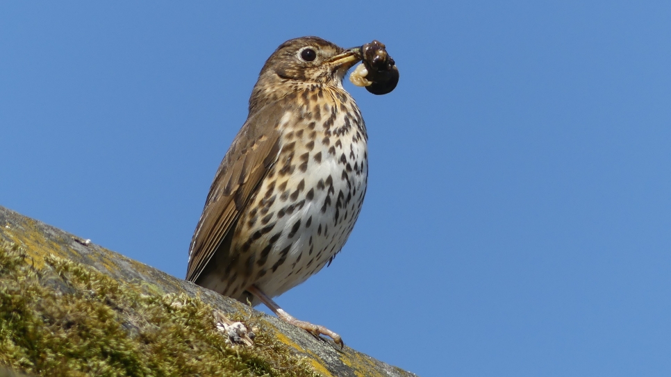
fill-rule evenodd
<path id="1" fill-rule="evenodd" d="M 45 262 L 0 244 L 0 365 L 50 377 L 317 376 L 260 317 L 237 318 L 259 328 L 255 346 L 231 346 L 199 299 Z"/>

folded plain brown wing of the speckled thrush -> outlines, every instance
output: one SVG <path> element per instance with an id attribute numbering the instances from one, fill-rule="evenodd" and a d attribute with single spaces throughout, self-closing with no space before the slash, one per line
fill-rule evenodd
<path id="1" fill-rule="evenodd" d="M 276 102 L 250 115 L 240 128 L 219 165 L 191 240 L 186 280 L 197 280 L 224 237 L 233 231 L 240 212 L 276 162 L 281 123 L 290 120 L 290 112 Z"/>

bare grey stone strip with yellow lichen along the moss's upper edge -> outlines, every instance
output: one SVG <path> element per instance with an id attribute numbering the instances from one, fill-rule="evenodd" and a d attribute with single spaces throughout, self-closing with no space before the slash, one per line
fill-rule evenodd
<path id="1" fill-rule="evenodd" d="M 118 281 L 145 285 L 151 292 L 188 294 L 227 314 L 263 317 L 272 325 L 277 339 L 289 346 L 295 355 L 306 358 L 315 371 L 324 376 L 415 376 L 347 346 L 340 350 L 331 340 L 315 338 L 304 330 L 285 324 L 276 317 L 260 313 L 238 301 L 169 276 L 153 267 L 1 206 L 0 240 L 24 249 L 38 269 L 45 265 L 45 258 L 53 255 L 92 267 Z"/>

